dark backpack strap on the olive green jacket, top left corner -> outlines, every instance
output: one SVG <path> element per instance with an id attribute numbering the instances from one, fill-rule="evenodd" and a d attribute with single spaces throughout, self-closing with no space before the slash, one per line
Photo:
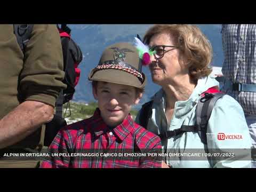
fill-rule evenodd
<path id="1" fill-rule="evenodd" d="M 22 50 L 23 54 L 25 54 L 26 46 L 30 38 L 30 34 L 32 33 L 34 24 L 14 24 L 13 25 L 13 33 L 17 38 L 17 42 Z"/>

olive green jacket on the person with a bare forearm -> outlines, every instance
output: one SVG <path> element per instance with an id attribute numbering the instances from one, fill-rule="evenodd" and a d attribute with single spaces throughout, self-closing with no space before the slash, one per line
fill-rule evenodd
<path id="1" fill-rule="evenodd" d="M 66 89 L 57 27 L 34 25 L 25 55 L 13 25 L 0 25 L 0 31 L 0 119 L 26 100 L 55 106 L 60 90 Z M 35 132 L 18 144 L 36 146 L 39 135 Z"/>

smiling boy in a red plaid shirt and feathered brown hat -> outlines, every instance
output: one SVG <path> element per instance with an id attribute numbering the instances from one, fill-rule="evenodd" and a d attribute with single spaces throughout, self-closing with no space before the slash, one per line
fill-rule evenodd
<path id="1" fill-rule="evenodd" d="M 135 47 L 129 43 L 107 47 L 89 80 L 99 108 L 91 118 L 59 131 L 49 147 L 50 153 L 59 155 L 41 167 L 161 167 L 161 159 L 137 157 L 160 153 L 162 148 L 159 137 L 135 124 L 130 115 L 146 84 Z"/>

